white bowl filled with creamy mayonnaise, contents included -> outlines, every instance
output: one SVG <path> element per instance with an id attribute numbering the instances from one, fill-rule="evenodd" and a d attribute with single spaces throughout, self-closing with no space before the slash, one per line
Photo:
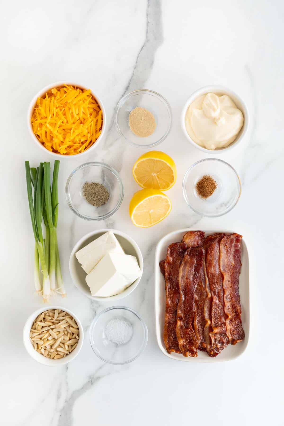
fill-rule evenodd
<path id="1" fill-rule="evenodd" d="M 236 147 L 249 127 L 247 105 L 239 95 L 224 86 L 204 86 L 186 101 L 181 127 L 189 142 L 205 153 L 218 153 Z"/>

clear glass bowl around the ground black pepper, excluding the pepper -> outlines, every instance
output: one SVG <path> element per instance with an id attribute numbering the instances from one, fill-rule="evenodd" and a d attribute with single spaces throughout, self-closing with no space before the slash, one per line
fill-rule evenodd
<path id="1" fill-rule="evenodd" d="M 109 191 L 109 200 L 103 206 L 89 204 L 83 196 L 85 182 L 98 182 Z M 104 163 L 85 163 L 77 167 L 66 182 L 65 196 L 70 209 L 86 220 L 103 220 L 112 216 L 122 203 L 124 189 L 118 172 Z"/>

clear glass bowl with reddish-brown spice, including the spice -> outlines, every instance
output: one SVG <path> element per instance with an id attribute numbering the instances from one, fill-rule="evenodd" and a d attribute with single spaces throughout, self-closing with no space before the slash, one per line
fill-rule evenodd
<path id="1" fill-rule="evenodd" d="M 206 158 L 189 167 L 182 191 L 186 203 L 195 213 L 217 217 L 235 207 L 241 195 L 241 181 L 226 161 Z"/>

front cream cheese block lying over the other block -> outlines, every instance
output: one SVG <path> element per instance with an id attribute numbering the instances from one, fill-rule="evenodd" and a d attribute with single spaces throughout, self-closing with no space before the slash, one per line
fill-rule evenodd
<path id="1" fill-rule="evenodd" d="M 86 276 L 92 296 L 109 297 L 121 293 L 141 276 L 135 256 L 106 253 Z"/>

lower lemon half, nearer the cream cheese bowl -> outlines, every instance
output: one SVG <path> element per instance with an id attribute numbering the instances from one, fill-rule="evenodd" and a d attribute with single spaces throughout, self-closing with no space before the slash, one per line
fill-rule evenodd
<path id="1" fill-rule="evenodd" d="M 129 204 L 129 215 L 136 226 L 147 228 L 168 216 L 172 203 L 168 196 L 154 189 L 142 189 L 134 194 Z"/>

